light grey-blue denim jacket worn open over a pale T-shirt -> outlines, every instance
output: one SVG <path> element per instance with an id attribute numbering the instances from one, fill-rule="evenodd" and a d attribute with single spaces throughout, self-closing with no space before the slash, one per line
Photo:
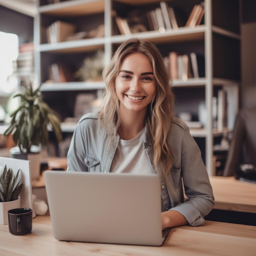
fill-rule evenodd
<path id="1" fill-rule="evenodd" d="M 182 213 L 192 226 L 204 225 L 206 216 L 214 206 L 213 191 L 201 152 L 189 132 L 188 126 L 173 117 L 168 145 L 174 152 L 173 167 L 164 180 L 160 173 L 162 211 Z M 118 137 L 119 140 L 119 137 Z M 67 171 L 108 173 L 117 144 L 108 148 L 108 136 L 99 129 L 97 114 L 84 115 L 76 126 L 67 153 Z M 144 149 L 153 162 L 153 147 L 145 140 Z M 152 164 L 153 171 L 157 173 Z M 184 202 L 184 191 L 188 199 Z"/>

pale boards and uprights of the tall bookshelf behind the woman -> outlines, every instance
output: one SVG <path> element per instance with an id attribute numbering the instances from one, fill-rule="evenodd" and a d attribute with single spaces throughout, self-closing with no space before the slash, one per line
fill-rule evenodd
<path id="1" fill-rule="evenodd" d="M 111 57 L 112 52 L 116 49 L 117 45 L 121 44 L 130 37 L 139 37 L 142 39 L 154 40 L 161 48 L 162 46 L 170 46 L 170 51 L 175 44 L 189 45 L 194 42 L 201 42 L 205 57 L 205 77 L 198 79 L 191 78 L 187 81 L 173 80 L 173 88 L 184 90 L 186 93 L 187 88 L 203 88 L 204 101 L 207 108 L 207 127 L 206 128 L 191 128 L 191 134 L 194 137 L 205 138 L 205 159 L 206 166 L 209 175 L 212 174 L 212 156 L 213 156 L 213 139 L 214 137 L 221 136 L 225 131 L 216 131 L 212 127 L 212 98 L 215 90 L 218 88 L 234 88 L 235 91 L 239 90 L 240 79 L 227 78 L 221 76 L 215 76 L 215 70 L 221 68 L 216 65 L 218 58 L 216 59 L 216 38 L 219 40 L 234 40 L 235 43 L 240 42 L 240 34 L 237 31 L 233 31 L 227 28 L 229 24 L 226 24 L 226 18 L 222 17 L 218 20 L 216 15 L 220 6 L 218 4 L 224 4 L 223 9 L 227 9 L 229 1 L 216 1 L 216 0 L 204 0 L 204 24 L 198 25 L 195 28 L 180 27 L 177 30 L 166 29 L 164 33 L 158 31 L 146 31 L 141 33 L 125 35 L 113 35 L 112 34 L 112 11 L 115 6 L 121 6 L 121 4 L 128 4 L 128 7 L 148 7 L 156 6 L 160 0 L 70 0 L 60 2 L 57 4 L 47 4 L 46 0 L 38 1 L 38 14 L 35 17 L 35 65 L 38 79 L 42 84 L 41 91 L 47 93 L 54 92 L 74 92 L 74 91 L 91 91 L 104 88 L 103 82 L 68 82 L 68 83 L 45 83 L 45 74 L 43 72 L 47 64 L 53 61 L 54 58 L 58 59 L 61 56 L 72 56 L 77 54 L 90 54 L 98 49 L 104 49 L 105 59 L 107 64 Z M 168 4 L 179 4 L 184 9 L 188 9 L 191 6 L 191 10 L 194 4 L 198 4 L 200 0 L 173 0 L 166 1 Z M 239 7 L 237 7 L 239 8 Z M 223 11 L 223 10 L 220 10 Z M 218 14 L 218 13 L 217 13 Z M 54 19 L 68 19 L 72 20 L 74 17 L 85 16 L 88 19 L 93 16 L 99 15 L 105 25 L 105 35 L 102 38 L 90 38 L 76 41 L 65 41 L 61 43 L 49 44 L 43 41 L 42 31 L 45 26 L 50 23 L 50 20 Z M 188 13 L 189 15 L 189 13 Z M 227 18 L 234 16 L 233 13 L 227 11 Z M 98 16 L 97 16 L 98 17 Z M 216 18 L 217 17 L 217 18 Z M 221 16 L 220 16 L 221 17 Z M 237 17 L 238 18 L 238 17 Z M 223 21 L 221 20 L 223 19 Z M 235 18 L 233 17 L 233 20 Z M 75 19 L 74 19 L 75 20 Z M 77 20 L 77 19 L 76 19 Z M 216 22 L 217 20 L 217 22 Z M 90 23 L 90 22 L 88 22 Z M 92 22 L 91 22 L 92 23 Z M 218 25 L 216 25 L 217 23 Z M 91 26 L 93 25 L 90 24 Z M 235 29 L 236 30 L 236 29 Z M 217 41 L 218 43 L 218 41 Z M 228 44 L 228 43 L 226 43 Z M 233 45 L 232 43 L 230 45 Z M 234 56 L 239 55 L 240 52 L 234 51 Z M 45 59 L 42 56 L 47 56 Z M 222 58 L 220 56 L 220 58 Z M 223 56 L 223 60 L 225 56 Z M 239 59 L 239 58 L 238 58 Z M 47 63 L 48 61 L 48 63 Z M 228 68 L 224 65 L 224 68 Z M 238 96 L 234 96 L 234 106 L 238 107 Z M 74 124 L 63 124 L 63 131 L 73 132 Z"/>

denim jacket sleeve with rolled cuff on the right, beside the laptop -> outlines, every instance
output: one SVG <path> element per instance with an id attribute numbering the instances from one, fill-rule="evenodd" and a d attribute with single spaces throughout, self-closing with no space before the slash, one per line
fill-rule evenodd
<path id="1" fill-rule="evenodd" d="M 188 199 L 170 210 L 179 211 L 192 226 L 204 225 L 204 216 L 213 208 L 214 197 L 200 148 L 188 127 L 181 146 L 181 176 Z"/>

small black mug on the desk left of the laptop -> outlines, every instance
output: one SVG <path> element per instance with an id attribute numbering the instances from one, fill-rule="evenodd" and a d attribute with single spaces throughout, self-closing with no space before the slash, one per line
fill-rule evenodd
<path id="1" fill-rule="evenodd" d="M 11 234 L 27 235 L 32 230 L 32 212 L 30 208 L 17 208 L 8 211 L 8 224 Z"/>

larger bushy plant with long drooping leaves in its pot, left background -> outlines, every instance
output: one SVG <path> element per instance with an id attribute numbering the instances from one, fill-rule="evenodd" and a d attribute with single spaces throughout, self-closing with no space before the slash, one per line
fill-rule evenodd
<path id="1" fill-rule="evenodd" d="M 57 141 L 62 140 L 61 121 L 44 102 L 40 86 L 36 90 L 31 83 L 22 86 L 25 93 L 14 96 L 20 97 L 21 103 L 10 114 L 11 121 L 4 135 L 13 134 L 17 146 L 10 149 L 11 157 L 30 160 L 31 179 L 37 179 L 40 176 L 40 147 L 49 143 L 50 128 Z"/>

